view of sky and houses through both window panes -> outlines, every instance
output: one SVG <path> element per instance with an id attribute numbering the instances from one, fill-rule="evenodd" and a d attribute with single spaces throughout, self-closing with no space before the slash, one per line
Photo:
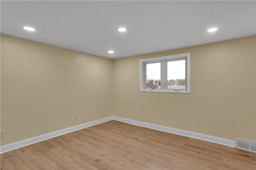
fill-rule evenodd
<path id="1" fill-rule="evenodd" d="M 186 60 L 167 61 L 167 88 L 186 89 Z M 161 63 L 146 64 L 146 88 L 161 88 Z"/>

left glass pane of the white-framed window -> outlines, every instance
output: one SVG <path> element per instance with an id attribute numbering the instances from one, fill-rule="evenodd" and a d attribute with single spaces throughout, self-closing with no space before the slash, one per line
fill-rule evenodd
<path id="1" fill-rule="evenodd" d="M 160 88 L 161 63 L 146 64 L 146 88 Z"/>

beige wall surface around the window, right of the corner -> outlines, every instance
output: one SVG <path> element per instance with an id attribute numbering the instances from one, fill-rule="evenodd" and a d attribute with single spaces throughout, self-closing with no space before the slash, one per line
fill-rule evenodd
<path id="1" fill-rule="evenodd" d="M 255 39 L 115 59 L 113 114 L 225 139 L 256 141 Z M 180 53 L 191 53 L 190 94 L 139 92 L 140 59 Z"/>

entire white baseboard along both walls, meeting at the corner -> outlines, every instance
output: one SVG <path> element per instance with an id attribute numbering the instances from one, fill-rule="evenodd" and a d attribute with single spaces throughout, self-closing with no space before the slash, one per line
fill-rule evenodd
<path id="1" fill-rule="evenodd" d="M 158 131 L 164 131 L 164 132 L 174 133 L 174 134 L 182 135 L 182 136 L 186 136 L 186 137 L 192 137 L 192 138 L 200 139 L 200 140 L 203 140 L 203 141 L 209 141 L 209 142 L 218 143 L 218 144 L 221 144 L 221 145 L 226 145 L 228 147 L 233 147 L 234 148 L 236 146 L 235 141 L 224 139 L 224 138 L 204 135 L 204 134 L 190 132 L 190 131 L 184 131 L 184 130 L 181 130 L 181 129 L 175 129 L 175 128 L 171 128 L 171 127 L 155 125 L 155 124 L 152 124 L 152 123 L 146 123 L 146 122 L 136 121 L 136 120 L 132 120 L 132 119 L 126 119 L 126 118 L 122 118 L 122 117 L 110 116 L 110 117 L 106 117 L 106 118 L 103 118 L 103 119 L 90 121 L 88 123 L 84 123 L 84 124 L 81 124 L 81 125 L 68 127 L 66 129 L 61 129 L 59 131 L 54 131 L 54 132 L 51 132 L 51 133 L 46 133 L 44 135 L 40 135 L 40 136 L 25 139 L 25 140 L 22 140 L 22 141 L 18 141 L 18 142 L 10 143 L 10 144 L 7 144 L 7 145 L 3 145 L 3 146 L 0 147 L 0 153 L 4 153 L 4 152 L 8 152 L 10 150 L 25 147 L 25 146 L 28 146 L 28 145 L 31 145 L 31 144 L 34 144 L 34 143 L 38 143 L 38 142 L 41 142 L 41 141 L 44 141 L 44 140 L 47 140 L 47 139 L 51 139 L 53 137 L 64 135 L 66 133 L 70 133 L 70 132 L 78 131 L 80 129 L 84 129 L 86 127 L 98 125 L 100 123 L 104 123 L 104 122 L 110 121 L 110 120 L 122 121 L 124 123 L 129 123 L 129 124 L 137 125 L 137 126 L 141 126 L 141 127 L 147 127 L 147 128 L 155 129 L 155 130 L 158 130 Z"/>

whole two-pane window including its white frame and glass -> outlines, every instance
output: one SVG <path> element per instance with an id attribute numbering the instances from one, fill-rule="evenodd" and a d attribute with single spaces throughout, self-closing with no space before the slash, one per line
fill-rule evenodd
<path id="1" fill-rule="evenodd" d="M 190 53 L 140 60 L 140 91 L 190 93 Z"/>

